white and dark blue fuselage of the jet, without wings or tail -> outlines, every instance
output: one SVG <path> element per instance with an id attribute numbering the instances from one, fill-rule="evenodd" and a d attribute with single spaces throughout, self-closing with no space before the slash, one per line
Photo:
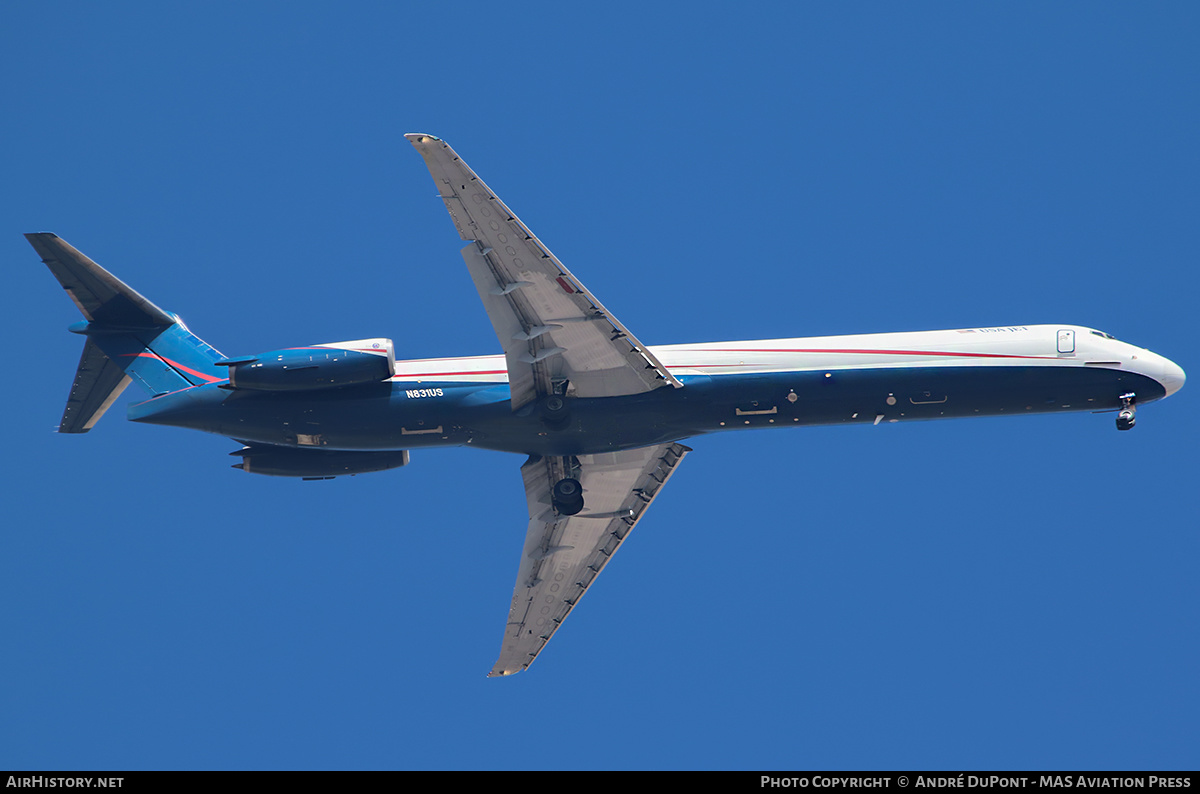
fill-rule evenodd
<path id="1" fill-rule="evenodd" d="M 504 356 L 397 361 L 389 381 L 272 392 L 209 383 L 131 407 L 130 419 L 326 450 L 479 446 L 584 455 L 732 429 L 1114 411 L 1165 397 L 1182 371 L 1070 325 L 1004 326 L 652 347 L 685 384 L 571 398 L 565 425 L 511 410 Z"/>

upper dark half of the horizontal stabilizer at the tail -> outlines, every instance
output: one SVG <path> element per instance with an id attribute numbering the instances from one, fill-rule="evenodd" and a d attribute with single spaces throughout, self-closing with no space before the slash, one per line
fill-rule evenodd
<path id="1" fill-rule="evenodd" d="M 67 290 L 89 323 L 100 326 L 146 329 L 172 325 L 175 319 L 128 284 L 76 251 L 49 231 L 25 239 Z"/>

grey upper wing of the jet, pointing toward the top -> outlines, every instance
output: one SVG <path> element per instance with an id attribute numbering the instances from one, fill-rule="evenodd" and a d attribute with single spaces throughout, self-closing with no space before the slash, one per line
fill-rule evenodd
<path id="1" fill-rule="evenodd" d="M 404 136 L 425 158 L 458 235 L 470 277 L 508 360 L 512 410 L 569 381 L 577 397 L 637 395 L 683 386 L 454 149 Z"/>

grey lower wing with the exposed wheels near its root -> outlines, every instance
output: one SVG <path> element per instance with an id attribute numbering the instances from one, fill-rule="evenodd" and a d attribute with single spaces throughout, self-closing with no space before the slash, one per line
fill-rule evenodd
<path id="1" fill-rule="evenodd" d="M 529 529 L 500 657 L 488 678 L 520 673 L 533 663 L 690 451 L 680 444 L 660 444 L 625 452 L 534 457 L 521 467 Z M 552 506 L 551 483 L 564 476 L 583 486 L 587 506 L 575 516 Z"/>

